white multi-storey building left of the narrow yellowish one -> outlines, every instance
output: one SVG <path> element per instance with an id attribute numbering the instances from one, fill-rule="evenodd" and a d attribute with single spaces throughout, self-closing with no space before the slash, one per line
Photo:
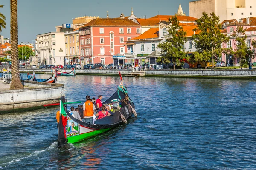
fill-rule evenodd
<path id="1" fill-rule="evenodd" d="M 41 58 L 41 64 L 64 65 L 64 32 L 39 34 L 37 35 L 36 44 L 36 54 Z"/>

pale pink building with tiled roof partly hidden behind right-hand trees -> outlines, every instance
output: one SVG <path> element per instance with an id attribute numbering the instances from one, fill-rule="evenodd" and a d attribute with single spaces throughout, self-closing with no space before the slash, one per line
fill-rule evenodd
<path id="1" fill-rule="evenodd" d="M 243 27 L 245 31 L 245 34 L 247 35 L 247 40 L 246 43 L 249 47 L 252 48 L 252 40 L 256 40 L 256 27 L 253 27 L 249 24 L 246 23 L 231 23 L 231 24 L 227 24 L 226 25 L 226 29 L 224 29 L 222 31 L 223 34 L 227 34 L 227 36 L 231 36 L 233 34 L 234 31 L 236 31 L 236 28 L 238 28 L 239 26 Z M 227 44 L 223 45 L 224 48 L 230 48 L 232 47 L 233 49 L 236 49 L 236 40 L 233 37 L 230 37 L 230 40 L 228 41 Z M 229 60 L 230 62 L 230 66 L 239 66 L 239 58 L 232 58 L 232 56 L 230 54 L 222 54 L 222 61 L 225 61 L 227 63 L 227 61 Z M 233 61 L 234 60 L 234 61 Z M 251 59 L 252 62 L 255 62 L 256 59 Z"/>

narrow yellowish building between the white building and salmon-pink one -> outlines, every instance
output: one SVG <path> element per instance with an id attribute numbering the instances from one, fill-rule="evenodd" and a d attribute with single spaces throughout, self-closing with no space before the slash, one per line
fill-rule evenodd
<path id="1" fill-rule="evenodd" d="M 79 28 L 71 32 L 65 32 L 65 64 L 81 63 Z"/>

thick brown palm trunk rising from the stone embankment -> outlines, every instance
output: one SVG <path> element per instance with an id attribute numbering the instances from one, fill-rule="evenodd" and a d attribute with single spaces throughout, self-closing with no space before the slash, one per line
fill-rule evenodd
<path id="1" fill-rule="evenodd" d="M 10 90 L 24 88 L 20 82 L 20 70 L 18 59 L 18 0 L 11 0 L 11 60 L 12 83 Z"/>

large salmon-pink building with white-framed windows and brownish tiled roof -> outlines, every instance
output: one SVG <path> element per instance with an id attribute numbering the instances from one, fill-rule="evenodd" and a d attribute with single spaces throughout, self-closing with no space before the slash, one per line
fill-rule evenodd
<path id="1" fill-rule="evenodd" d="M 113 55 L 127 52 L 125 41 L 140 35 L 141 26 L 125 18 L 97 18 L 79 28 L 84 63 L 113 63 Z"/>

